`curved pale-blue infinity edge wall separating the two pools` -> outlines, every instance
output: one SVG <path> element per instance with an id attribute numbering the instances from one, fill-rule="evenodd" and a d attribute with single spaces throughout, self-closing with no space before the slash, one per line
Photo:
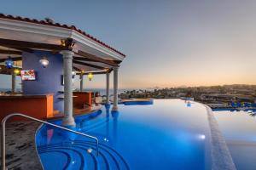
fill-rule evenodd
<path id="1" fill-rule="evenodd" d="M 236 165 L 232 159 L 224 136 L 219 130 L 218 122 L 213 115 L 212 109 L 207 105 L 204 106 L 207 109 L 207 117 L 211 133 L 212 170 L 236 170 Z"/>

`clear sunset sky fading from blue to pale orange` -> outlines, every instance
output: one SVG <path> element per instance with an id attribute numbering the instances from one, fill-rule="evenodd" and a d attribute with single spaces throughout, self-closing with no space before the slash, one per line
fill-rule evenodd
<path id="1" fill-rule="evenodd" d="M 119 49 L 127 56 L 119 88 L 256 84 L 255 9 L 256 1 L 246 0 L 2 0 L 0 5 L 0 13 L 49 17 Z M 0 76 L 0 88 L 10 88 L 10 82 Z M 104 88 L 105 77 L 85 83 Z"/>

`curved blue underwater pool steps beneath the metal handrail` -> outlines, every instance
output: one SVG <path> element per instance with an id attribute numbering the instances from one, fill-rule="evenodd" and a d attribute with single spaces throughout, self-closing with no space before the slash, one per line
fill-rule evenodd
<path id="1" fill-rule="evenodd" d="M 93 151 L 88 153 L 88 149 Z M 96 144 L 90 141 L 74 140 L 73 142 L 45 144 L 38 146 L 38 153 L 45 170 L 59 169 L 56 167 L 68 170 L 130 169 L 123 156 L 107 144 L 99 144 L 99 156 L 96 156 Z M 50 161 L 49 157 L 52 158 Z"/>

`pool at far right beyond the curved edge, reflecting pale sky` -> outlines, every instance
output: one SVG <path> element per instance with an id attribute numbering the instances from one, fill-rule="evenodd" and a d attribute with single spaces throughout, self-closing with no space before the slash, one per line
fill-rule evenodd
<path id="1" fill-rule="evenodd" d="M 238 170 L 256 168 L 255 112 L 255 110 L 216 110 L 213 112 Z"/>

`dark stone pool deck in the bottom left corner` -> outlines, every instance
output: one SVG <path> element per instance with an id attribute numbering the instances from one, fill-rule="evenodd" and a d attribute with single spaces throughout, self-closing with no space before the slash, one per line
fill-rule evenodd
<path id="1" fill-rule="evenodd" d="M 35 133 L 40 124 L 7 122 L 6 167 L 8 169 L 43 170 L 35 145 Z"/>

